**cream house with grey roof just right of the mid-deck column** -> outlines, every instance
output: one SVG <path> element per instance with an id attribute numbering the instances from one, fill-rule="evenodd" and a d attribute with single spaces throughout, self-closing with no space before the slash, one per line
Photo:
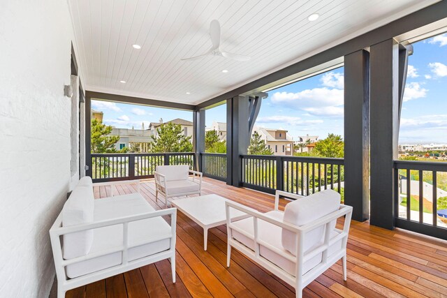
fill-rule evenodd
<path id="1" fill-rule="evenodd" d="M 293 137 L 284 129 L 264 128 L 255 126 L 253 133 L 261 135 L 267 147 L 274 155 L 293 155 Z"/>

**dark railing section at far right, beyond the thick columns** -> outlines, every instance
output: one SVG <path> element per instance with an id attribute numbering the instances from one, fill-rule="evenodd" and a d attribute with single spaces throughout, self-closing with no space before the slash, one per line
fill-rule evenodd
<path id="1" fill-rule="evenodd" d="M 447 163 L 395 161 L 395 225 L 447 239 Z M 441 200 L 446 203 L 441 203 Z"/>

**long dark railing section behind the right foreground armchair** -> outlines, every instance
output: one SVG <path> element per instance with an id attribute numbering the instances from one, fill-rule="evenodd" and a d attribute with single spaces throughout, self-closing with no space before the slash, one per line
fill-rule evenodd
<path id="1" fill-rule="evenodd" d="M 323 189 L 344 194 L 343 158 L 243 155 L 242 186 L 310 195 Z"/>

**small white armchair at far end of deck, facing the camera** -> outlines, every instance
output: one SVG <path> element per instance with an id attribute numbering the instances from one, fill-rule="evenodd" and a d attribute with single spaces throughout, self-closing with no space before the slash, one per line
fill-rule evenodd
<path id="1" fill-rule="evenodd" d="M 189 178 L 192 174 L 192 178 Z M 155 172 L 155 200 L 159 193 L 165 198 L 168 206 L 168 198 L 182 195 L 193 195 L 202 191 L 202 173 L 189 170 L 188 165 L 157 165 Z"/>

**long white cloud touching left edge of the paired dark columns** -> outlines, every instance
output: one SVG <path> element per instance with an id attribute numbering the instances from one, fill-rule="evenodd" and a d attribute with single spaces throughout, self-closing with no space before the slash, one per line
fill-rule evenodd
<path id="1" fill-rule="evenodd" d="M 300 92 L 276 92 L 272 103 L 314 116 L 340 117 L 343 114 L 344 91 L 341 89 L 314 88 Z"/>

